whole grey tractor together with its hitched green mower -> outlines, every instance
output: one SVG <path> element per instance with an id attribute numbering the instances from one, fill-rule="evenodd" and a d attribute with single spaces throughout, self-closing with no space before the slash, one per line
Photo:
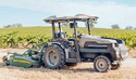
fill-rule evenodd
<path id="1" fill-rule="evenodd" d="M 39 52 L 30 49 L 27 54 L 14 53 L 5 63 L 24 67 L 44 64 L 50 69 L 61 69 L 64 65 L 74 66 L 77 63 L 90 62 L 99 72 L 118 69 L 128 55 L 127 48 L 123 40 L 91 36 L 90 23 L 96 22 L 97 18 L 85 14 L 50 16 L 45 22 L 52 24 L 52 41 L 44 44 Z M 87 23 L 88 35 L 77 34 L 77 22 Z M 70 23 L 70 28 L 74 28 L 73 39 L 67 39 L 66 32 L 62 32 L 62 23 Z M 59 25 L 59 32 L 55 32 L 55 24 Z"/>

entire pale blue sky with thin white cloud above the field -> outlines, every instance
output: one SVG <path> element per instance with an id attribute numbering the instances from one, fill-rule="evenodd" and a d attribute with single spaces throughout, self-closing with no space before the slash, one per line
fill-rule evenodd
<path id="1" fill-rule="evenodd" d="M 96 28 L 136 27 L 136 0 L 0 0 L 0 28 L 21 23 L 23 26 L 47 26 L 52 15 L 98 16 Z"/>

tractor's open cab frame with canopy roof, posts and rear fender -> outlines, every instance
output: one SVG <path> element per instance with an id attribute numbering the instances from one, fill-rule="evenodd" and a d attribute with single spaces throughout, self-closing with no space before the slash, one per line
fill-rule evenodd
<path id="1" fill-rule="evenodd" d="M 46 23 L 52 24 L 52 35 L 53 35 L 53 39 L 51 42 L 48 43 L 55 43 L 61 45 L 64 51 L 65 51 L 65 62 L 66 63 L 81 63 L 81 54 L 79 54 L 79 45 L 78 45 L 78 38 L 77 38 L 77 22 L 85 22 L 87 23 L 87 27 L 88 27 L 88 35 L 90 35 L 90 22 L 96 22 L 97 21 L 97 16 L 90 16 L 90 15 L 85 15 L 85 14 L 77 14 L 75 16 L 51 16 L 45 19 Z M 70 23 L 70 27 L 74 28 L 74 39 L 61 39 L 60 35 L 64 35 L 64 32 L 62 32 L 61 29 L 61 23 Z M 55 32 L 55 25 L 58 24 L 59 26 L 59 32 Z M 65 35 L 64 35 L 65 36 Z M 70 41 L 74 41 L 74 52 L 70 51 L 69 48 L 66 48 L 70 43 Z M 63 42 L 63 43 L 61 43 Z M 72 57 L 76 57 L 76 58 L 72 58 Z"/>

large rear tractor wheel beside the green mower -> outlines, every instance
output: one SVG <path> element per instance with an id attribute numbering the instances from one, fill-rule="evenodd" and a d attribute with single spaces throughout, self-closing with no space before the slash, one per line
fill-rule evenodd
<path id="1" fill-rule="evenodd" d="M 50 69 L 60 69 L 64 66 L 64 51 L 61 46 L 52 44 L 46 49 L 42 56 L 45 66 Z"/>

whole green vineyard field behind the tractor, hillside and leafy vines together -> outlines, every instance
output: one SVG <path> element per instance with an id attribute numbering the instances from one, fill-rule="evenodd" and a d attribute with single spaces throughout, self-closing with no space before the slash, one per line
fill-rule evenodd
<path id="1" fill-rule="evenodd" d="M 58 31 L 58 29 L 57 29 Z M 63 31 L 72 37 L 73 29 L 63 27 Z M 87 28 L 78 28 L 82 34 L 87 34 Z M 94 28 L 95 36 L 122 39 L 128 48 L 136 46 L 136 30 Z M 29 48 L 52 39 L 51 27 L 20 27 L 0 29 L 0 48 Z"/>

